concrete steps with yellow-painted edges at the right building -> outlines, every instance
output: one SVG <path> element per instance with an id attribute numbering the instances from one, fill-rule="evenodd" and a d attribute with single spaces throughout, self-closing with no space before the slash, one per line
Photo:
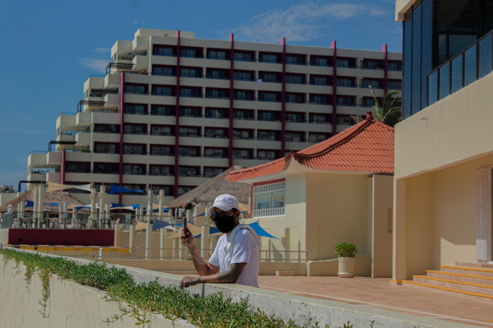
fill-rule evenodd
<path id="1" fill-rule="evenodd" d="M 493 303 L 492 264 L 441 266 L 439 271 L 426 270 L 425 276 L 413 275 L 413 280 L 402 280 L 402 284 Z"/>

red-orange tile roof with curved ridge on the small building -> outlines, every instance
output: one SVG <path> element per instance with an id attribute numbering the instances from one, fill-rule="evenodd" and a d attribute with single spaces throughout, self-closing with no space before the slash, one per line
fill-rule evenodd
<path id="1" fill-rule="evenodd" d="M 225 179 L 240 181 L 282 173 L 294 165 L 293 159 L 313 170 L 393 174 L 394 128 L 367 116 L 316 145 L 269 163 L 231 171 Z"/>

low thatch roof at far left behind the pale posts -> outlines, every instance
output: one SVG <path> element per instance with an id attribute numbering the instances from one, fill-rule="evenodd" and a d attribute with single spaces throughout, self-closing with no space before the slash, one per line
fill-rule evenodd
<path id="1" fill-rule="evenodd" d="M 30 200 L 34 202 L 34 190 L 29 190 L 20 195 L 19 197 L 11 200 L 0 206 L 0 212 L 6 212 L 9 205 L 12 205 L 12 209 L 14 212 L 17 212 L 17 205 L 19 203 L 26 204 L 26 200 Z M 59 192 L 59 191 L 47 191 L 44 193 L 43 198 L 43 212 L 58 212 L 60 210 L 59 206 L 46 205 L 51 203 L 63 204 L 64 202 L 70 203 L 71 205 L 85 205 L 77 198 L 70 195 L 68 192 Z M 25 212 L 32 212 L 33 207 L 28 207 L 24 209 Z"/>

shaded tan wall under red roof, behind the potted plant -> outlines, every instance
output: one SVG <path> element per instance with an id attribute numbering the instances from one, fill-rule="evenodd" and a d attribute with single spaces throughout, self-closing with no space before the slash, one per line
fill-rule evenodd
<path id="1" fill-rule="evenodd" d="M 307 249 L 311 260 L 336 258 L 334 246 L 367 249 L 367 176 L 307 173 Z"/>

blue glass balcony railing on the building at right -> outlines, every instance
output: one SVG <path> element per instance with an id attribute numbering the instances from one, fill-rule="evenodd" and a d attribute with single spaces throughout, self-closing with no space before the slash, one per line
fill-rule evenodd
<path id="1" fill-rule="evenodd" d="M 492 72 L 493 30 L 428 74 L 428 106 Z"/>

